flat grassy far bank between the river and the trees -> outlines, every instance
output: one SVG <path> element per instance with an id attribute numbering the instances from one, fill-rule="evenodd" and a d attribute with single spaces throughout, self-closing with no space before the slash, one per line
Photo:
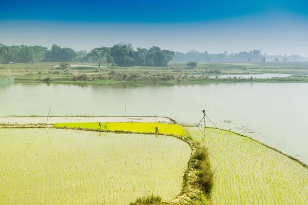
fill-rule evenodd
<path id="1" fill-rule="evenodd" d="M 306 63 L 200 63 L 188 69 L 185 63 L 170 63 L 168 67 L 117 67 L 100 69 L 95 64 L 74 64 L 61 70 L 59 63 L 0 65 L 0 76 L 14 76 L 16 82 L 53 83 L 114 83 L 114 82 L 187 82 L 187 83 L 241 83 L 241 82 L 308 82 Z M 222 74 L 291 73 L 294 77 L 220 78 Z M 209 78 L 209 75 L 217 78 Z"/>

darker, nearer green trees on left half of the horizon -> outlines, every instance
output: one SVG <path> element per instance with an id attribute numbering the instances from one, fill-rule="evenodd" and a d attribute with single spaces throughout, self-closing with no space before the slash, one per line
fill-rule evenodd
<path id="1" fill-rule="evenodd" d="M 96 62 L 117 66 L 168 66 L 175 52 L 158 46 L 134 49 L 131 44 L 120 43 L 113 47 L 98 47 L 87 52 L 74 51 L 52 45 L 51 49 L 42 46 L 5 46 L 0 44 L 0 63 L 38 63 L 38 62 Z"/>

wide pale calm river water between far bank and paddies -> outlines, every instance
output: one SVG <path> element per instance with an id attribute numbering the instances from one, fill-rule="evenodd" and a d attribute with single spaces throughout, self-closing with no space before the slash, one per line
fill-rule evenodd
<path id="1" fill-rule="evenodd" d="M 0 116 L 150 115 L 244 133 L 308 163 L 308 84 L 18 84 L 0 87 Z M 202 121 L 203 123 L 203 121 Z M 206 118 L 206 126 L 213 126 Z"/>

